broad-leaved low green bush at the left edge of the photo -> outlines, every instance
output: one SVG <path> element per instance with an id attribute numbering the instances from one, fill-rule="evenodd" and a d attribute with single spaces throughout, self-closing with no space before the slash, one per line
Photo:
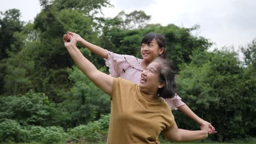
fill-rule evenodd
<path id="1" fill-rule="evenodd" d="M 0 111 L 0 121 L 14 119 L 21 125 L 58 125 L 68 119 L 45 94 L 33 91 L 2 97 Z"/>

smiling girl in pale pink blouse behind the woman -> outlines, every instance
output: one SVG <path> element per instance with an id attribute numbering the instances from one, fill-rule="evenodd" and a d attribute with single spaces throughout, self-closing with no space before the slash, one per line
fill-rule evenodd
<path id="1" fill-rule="evenodd" d="M 89 43 L 80 37 L 80 35 L 67 32 L 68 40 L 75 39 L 78 43 L 87 47 L 90 51 L 96 53 L 96 55 L 102 57 L 106 61 L 107 67 L 109 67 L 110 75 L 113 77 L 121 77 L 126 80 L 130 80 L 139 84 L 140 75 L 142 71 L 151 63 L 155 58 L 162 57 L 166 59 L 166 40 L 165 38 L 156 33 L 148 33 L 144 35 L 141 41 L 141 55 L 143 59 L 136 58 L 130 55 L 119 55 L 117 53 L 110 52 L 103 49 L 100 46 Z M 165 99 L 170 109 L 179 109 L 185 115 L 194 119 L 200 125 L 205 125 L 208 122 L 198 117 L 176 94 L 172 99 Z M 209 134 L 217 133 L 215 128 L 210 124 Z"/>

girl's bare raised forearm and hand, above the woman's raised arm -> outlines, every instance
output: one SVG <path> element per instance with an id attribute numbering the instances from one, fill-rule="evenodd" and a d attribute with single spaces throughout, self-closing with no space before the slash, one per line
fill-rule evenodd
<path id="1" fill-rule="evenodd" d="M 88 41 L 86 41 L 85 39 L 80 37 L 80 35 L 78 35 L 76 33 L 67 32 L 67 34 L 71 35 L 71 39 L 76 39 L 78 43 L 87 47 L 91 52 L 95 53 L 96 55 L 98 55 L 102 58 L 106 58 L 106 59 L 108 58 L 108 53 L 102 47 L 89 43 Z"/>

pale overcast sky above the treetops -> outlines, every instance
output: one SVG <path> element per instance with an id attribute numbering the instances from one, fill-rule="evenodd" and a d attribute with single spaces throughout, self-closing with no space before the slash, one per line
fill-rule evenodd
<path id="1" fill-rule="evenodd" d="M 0 0 L 0 11 L 16 8 L 21 20 L 34 19 L 40 11 L 39 0 Z M 110 0 L 114 8 L 104 8 L 106 17 L 121 10 L 130 13 L 143 10 L 151 15 L 150 23 L 162 26 L 173 23 L 180 27 L 200 25 L 193 32 L 216 43 L 214 47 L 246 46 L 256 39 L 256 1 L 254 0 Z"/>

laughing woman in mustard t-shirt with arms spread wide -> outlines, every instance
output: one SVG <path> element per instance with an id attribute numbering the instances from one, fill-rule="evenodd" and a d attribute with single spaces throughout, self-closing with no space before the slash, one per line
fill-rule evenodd
<path id="1" fill-rule="evenodd" d="M 86 59 L 77 48 L 77 41 L 63 41 L 78 68 L 110 95 L 111 114 L 107 143 L 160 143 L 162 133 L 174 141 L 194 141 L 208 136 L 209 124 L 201 130 L 178 129 L 172 112 L 162 98 L 175 95 L 175 71 L 172 63 L 156 58 L 141 73 L 139 85 L 104 74 Z"/>

